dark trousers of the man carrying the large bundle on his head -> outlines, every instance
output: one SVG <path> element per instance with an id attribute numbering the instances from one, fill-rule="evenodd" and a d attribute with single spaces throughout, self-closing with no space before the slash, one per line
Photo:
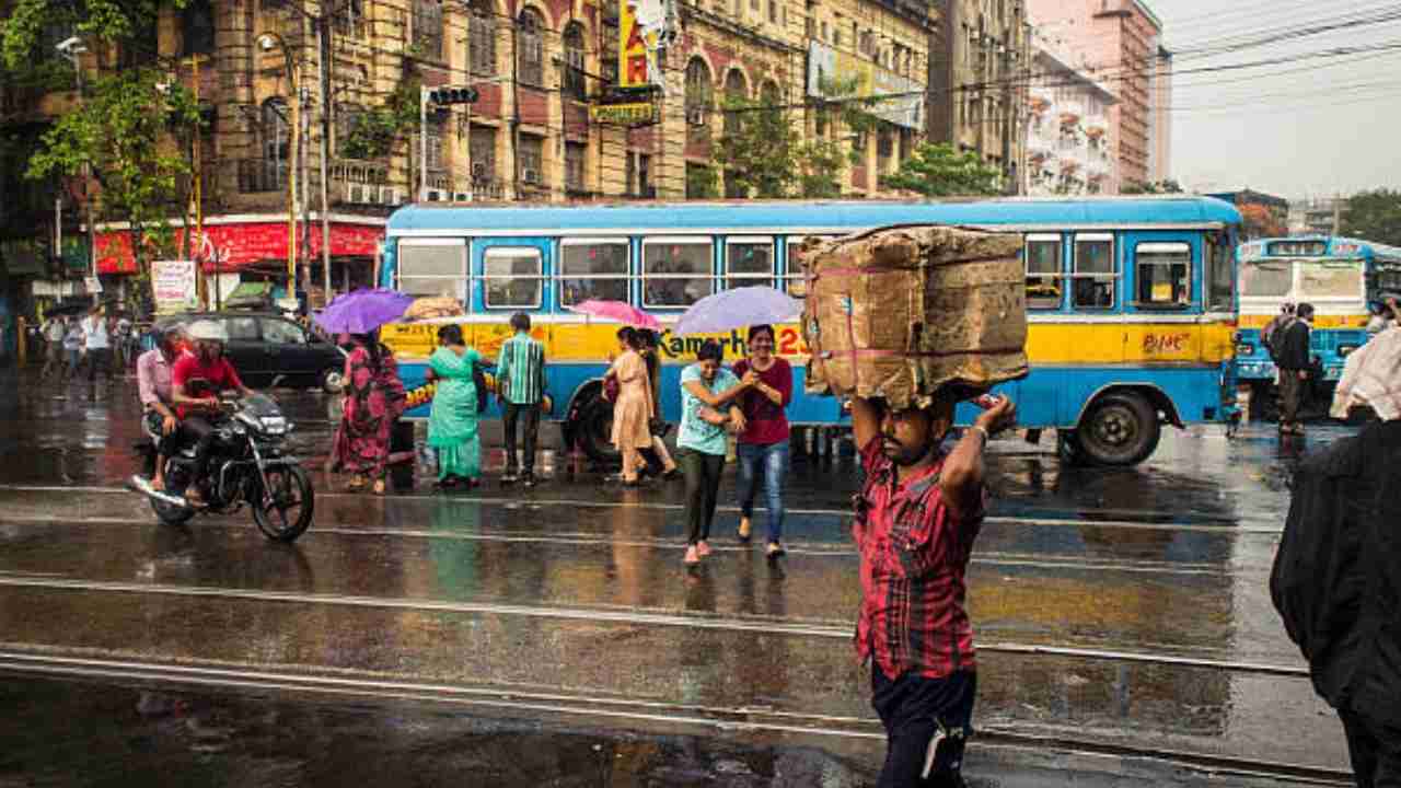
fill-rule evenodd
<path id="1" fill-rule="evenodd" d="M 877 788 L 958 788 L 962 754 L 972 735 L 978 676 L 958 670 L 946 679 L 904 673 L 888 679 L 871 662 L 871 705 L 885 726 L 885 766 Z"/>

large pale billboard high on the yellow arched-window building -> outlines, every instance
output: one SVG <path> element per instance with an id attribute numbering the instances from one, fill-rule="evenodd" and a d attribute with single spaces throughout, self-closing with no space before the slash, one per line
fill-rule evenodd
<path id="1" fill-rule="evenodd" d="M 855 80 L 855 86 L 850 84 Z M 813 98 L 890 95 L 866 112 L 905 129 L 925 128 L 925 86 L 876 63 L 813 41 L 807 53 L 807 94 Z"/>

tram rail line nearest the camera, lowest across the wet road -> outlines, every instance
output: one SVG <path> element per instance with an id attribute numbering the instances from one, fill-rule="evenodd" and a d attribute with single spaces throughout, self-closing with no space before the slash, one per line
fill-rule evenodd
<path id="1" fill-rule="evenodd" d="M 785 712 L 750 707 L 700 707 L 623 697 L 593 697 L 539 693 L 514 687 L 461 687 L 388 679 L 352 679 L 300 672 L 270 672 L 231 667 L 200 667 L 151 662 L 64 658 L 32 652 L 0 652 L 0 670 L 25 674 L 80 676 L 147 680 L 174 686 L 216 688 L 283 690 L 314 695 L 364 697 L 374 700 L 412 700 L 461 707 L 492 708 L 510 712 L 537 712 L 562 716 L 607 718 L 630 722 L 681 725 L 726 732 L 775 732 L 799 736 L 824 736 L 881 742 L 884 731 L 874 718 L 832 716 Z M 1041 728 L 1042 732 L 1035 729 Z M 1351 785 L 1351 773 L 1327 767 L 1238 759 L 1184 750 L 1133 747 L 1103 740 L 1076 740 L 1048 735 L 1049 726 L 982 726 L 974 749 L 1031 749 L 1037 753 L 1093 754 L 1118 759 L 1152 759 L 1185 766 L 1217 777 L 1265 777 L 1314 785 Z"/>

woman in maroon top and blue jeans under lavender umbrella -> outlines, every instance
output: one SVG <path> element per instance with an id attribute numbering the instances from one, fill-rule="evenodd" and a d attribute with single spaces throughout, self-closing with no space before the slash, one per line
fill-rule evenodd
<path id="1" fill-rule="evenodd" d="M 787 408 L 793 401 L 793 367 L 773 355 L 773 327 L 751 325 L 750 358 L 734 365 L 734 374 L 745 390 L 736 400 L 744 411 L 745 428 L 740 433 L 736 456 L 740 463 L 740 541 L 750 541 L 754 520 L 754 496 L 764 475 L 768 503 L 768 547 L 765 555 L 783 555 L 783 480 L 789 473 Z"/>

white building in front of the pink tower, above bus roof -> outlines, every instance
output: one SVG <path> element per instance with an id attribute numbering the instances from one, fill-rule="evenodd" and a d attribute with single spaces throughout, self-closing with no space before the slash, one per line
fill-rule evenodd
<path id="1" fill-rule="evenodd" d="M 1117 193 L 1110 108 L 1117 98 L 1058 41 L 1033 43 L 1026 191 L 1031 195 Z"/>

